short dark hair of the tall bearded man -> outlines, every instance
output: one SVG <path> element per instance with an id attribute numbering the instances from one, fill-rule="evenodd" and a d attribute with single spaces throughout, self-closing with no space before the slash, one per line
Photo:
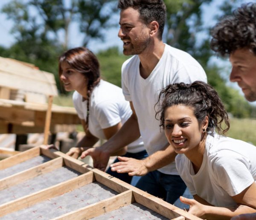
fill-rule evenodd
<path id="1" fill-rule="evenodd" d="M 139 11 L 140 19 L 146 25 L 152 21 L 159 24 L 159 38 L 162 40 L 164 24 L 166 21 L 166 5 L 163 0 L 119 0 L 118 8 L 123 10 L 133 8 Z"/>

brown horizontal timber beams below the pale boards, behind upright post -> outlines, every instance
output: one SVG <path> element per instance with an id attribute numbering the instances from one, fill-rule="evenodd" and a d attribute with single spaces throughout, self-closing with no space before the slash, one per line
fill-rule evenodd
<path id="1" fill-rule="evenodd" d="M 47 104 L 34 104 L 21 101 L 0 99 L 0 133 L 42 133 L 47 111 Z M 75 130 L 80 124 L 76 110 L 73 107 L 52 106 L 50 131 Z"/>

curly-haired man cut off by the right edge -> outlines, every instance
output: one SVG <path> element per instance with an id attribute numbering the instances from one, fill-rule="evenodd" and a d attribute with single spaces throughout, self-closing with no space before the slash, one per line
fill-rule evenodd
<path id="1" fill-rule="evenodd" d="M 232 64 L 230 81 L 237 82 L 248 101 L 256 101 L 256 3 L 242 5 L 212 30 L 211 47 Z M 232 220 L 256 219 L 242 214 Z"/>

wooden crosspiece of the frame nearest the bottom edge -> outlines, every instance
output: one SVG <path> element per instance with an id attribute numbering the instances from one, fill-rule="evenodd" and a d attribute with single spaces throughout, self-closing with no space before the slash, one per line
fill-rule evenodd
<path id="1" fill-rule="evenodd" d="M 102 200 L 99 203 L 86 206 L 85 208 L 80 208 L 76 211 L 72 211 L 70 213 L 61 215 L 59 217 L 53 218 L 52 220 L 84 220 L 90 219 L 93 217 L 97 217 L 99 215 L 104 214 L 108 211 L 113 211 L 121 206 L 125 206 L 134 202 L 134 198 L 132 196 L 132 191 L 125 191 L 119 195 L 113 196 L 106 200 Z"/>

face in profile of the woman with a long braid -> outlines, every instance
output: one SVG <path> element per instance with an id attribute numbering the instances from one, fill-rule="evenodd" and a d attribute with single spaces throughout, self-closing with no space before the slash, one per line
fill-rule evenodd
<path id="1" fill-rule="evenodd" d="M 66 91 L 76 90 L 82 96 L 86 97 L 87 94 L 87 80 L 80 72 L 76 71 L 70 65 L 63 61 L 61 63 L 61 75 L 60 79 L 64 84 Z"/>

